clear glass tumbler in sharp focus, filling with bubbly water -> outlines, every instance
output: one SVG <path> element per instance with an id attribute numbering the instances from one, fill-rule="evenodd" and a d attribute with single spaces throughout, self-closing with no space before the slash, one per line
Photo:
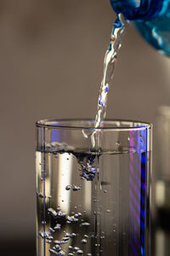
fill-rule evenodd
<path id="1" fill-rule="evenodd" d="M 150 124 L 37 122 L 37 255 L 149 255 Z"/>

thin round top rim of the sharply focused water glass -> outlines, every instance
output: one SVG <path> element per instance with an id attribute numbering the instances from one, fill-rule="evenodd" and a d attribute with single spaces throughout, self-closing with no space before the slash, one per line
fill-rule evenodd
<path id="1" fill-rule="evenodd" d="M 65 122 L 65 125 L 63 124 Z M 36 126 L 39 128 L 48 128 L 48 129 L 69 129 L 69 130 L 102 130 L 102 131 L 137 131 L 144 129 L 151 129 L 152 124 L 137 120 L 129 120 L 129 119 L 105 119 L 105 125 L 111 125 L 111 123 L 116 124 L 117 126 L 104 126 L 95 128 L 93 125 L 69 125 L 69 123 L 77 123 L 78 122 L 91 122 L 94 124 L 94 119 L 40 119 L 37 120 Z M 67 123 L 67 124 L 66 124 Z M 120 125 L 120 123 L 123 125 Z"/>

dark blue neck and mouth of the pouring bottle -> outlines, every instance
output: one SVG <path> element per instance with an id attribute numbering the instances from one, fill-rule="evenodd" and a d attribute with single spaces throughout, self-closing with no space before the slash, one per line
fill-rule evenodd
<path id="1" fill-rule="evenodd" d="M 150 20 L 161 11 L 163 0 L 111 0 L 116 14 L 127 20 Z"/>

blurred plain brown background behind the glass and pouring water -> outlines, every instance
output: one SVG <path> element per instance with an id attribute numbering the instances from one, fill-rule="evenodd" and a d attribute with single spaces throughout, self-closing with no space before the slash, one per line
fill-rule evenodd
<path id="1" fill-rule="evenodd" d="M 115 17 L 109 0 L 0 1 L 2 255 L 34 253 L 34 124 L 94 118 Z M 170 103 L 169 68 L 129 26 L 107 117 L 155 123 L 156 109 Z"/>

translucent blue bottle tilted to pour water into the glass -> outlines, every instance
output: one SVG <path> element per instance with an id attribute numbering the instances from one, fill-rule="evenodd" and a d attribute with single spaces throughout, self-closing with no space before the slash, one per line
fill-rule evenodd
<path id="1" fill-rule="evenodd" d="M 111 0 L 111 5 L 134 21 L 148 43 L 170 55 L 170 0 Z"/>

